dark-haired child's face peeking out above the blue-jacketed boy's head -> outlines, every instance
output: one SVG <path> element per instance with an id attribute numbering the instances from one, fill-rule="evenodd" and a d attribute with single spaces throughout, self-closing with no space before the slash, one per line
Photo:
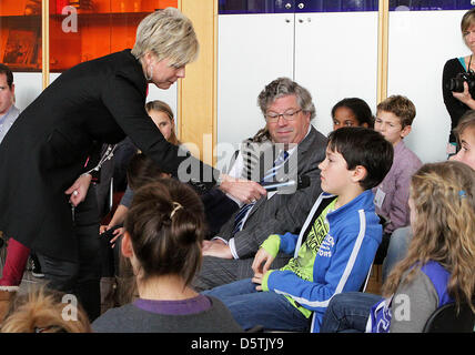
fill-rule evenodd
<path id="1" fill-rule="evenodd" d="M 346 98 L 332 108 L 333 130 L 342 126 L 374 126 L 368 104 L 360 98 Z"/>

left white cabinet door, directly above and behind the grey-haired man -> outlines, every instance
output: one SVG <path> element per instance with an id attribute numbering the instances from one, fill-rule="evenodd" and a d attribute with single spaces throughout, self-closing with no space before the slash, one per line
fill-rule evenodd
<path id="1" fill-rule="evenodd" d="M 239 144 L 265 125 L 257 95 L 272 80 L 293 77 L 294 17 L 219 17 L 218 143 Z"/>

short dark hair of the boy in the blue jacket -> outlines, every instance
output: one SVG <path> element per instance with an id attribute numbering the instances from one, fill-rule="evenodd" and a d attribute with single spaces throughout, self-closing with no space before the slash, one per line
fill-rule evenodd
<path id="1" fill-rule="evenodd" d="M 366 178 L 360 181 L 364 190 L 377 186 L 393 164 L 393 144 L 376 131 L 362 126 L 344 126 L 329 135 L 329 149 L 338 152 L 348 170 L 356 165 L 366 169 Z"/>

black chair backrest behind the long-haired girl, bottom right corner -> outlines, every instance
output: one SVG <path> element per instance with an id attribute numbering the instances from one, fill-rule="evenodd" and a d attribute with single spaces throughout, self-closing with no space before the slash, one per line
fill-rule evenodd
<path id="1" fill-rule="evenodd" d="M 473 333 L 475 314 L 467 303 L 462 304 L 457 314 L 455 303 L 448 303 L 434 311 L 427 320 L 423 333 Z"/>

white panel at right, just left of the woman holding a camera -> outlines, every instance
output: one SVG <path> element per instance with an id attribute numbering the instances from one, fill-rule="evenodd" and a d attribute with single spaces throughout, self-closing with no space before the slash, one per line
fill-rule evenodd
<path id="1" fill-rule="evenodd" d="M 451 119 L 442 97 L 442 71 L 454 57 L 469 54 L 459 23 L 466 11 L 390 12 L 387 94 L 416 106 L 406 144 L 423 162 L 446 160 Z"/>

